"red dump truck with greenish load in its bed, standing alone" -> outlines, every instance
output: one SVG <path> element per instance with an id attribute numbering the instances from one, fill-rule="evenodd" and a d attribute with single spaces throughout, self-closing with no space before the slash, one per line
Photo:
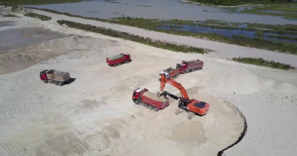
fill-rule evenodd
<path id="1" fill-rule="evenodd" d="M 121 53 L 111 58 L 106 58 L 106 63 L 110 66 L 116 67 L 118 65 L 131 62 L 130 54 Z"/>

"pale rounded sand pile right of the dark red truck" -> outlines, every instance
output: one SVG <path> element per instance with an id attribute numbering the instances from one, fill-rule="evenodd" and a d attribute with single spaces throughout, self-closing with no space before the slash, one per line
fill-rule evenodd
<path id="1" fill-rule="evenodd" d="M 248 69 L 236 68 L 213 78 L 206 88 L 228 93 L 250 94 L 259 90 L 257 76 Z"/>

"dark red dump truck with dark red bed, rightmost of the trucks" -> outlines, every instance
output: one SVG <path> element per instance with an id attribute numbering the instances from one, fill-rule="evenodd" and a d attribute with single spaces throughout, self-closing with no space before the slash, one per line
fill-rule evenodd
<path id="1" fill-rule="evenodd" d="M 180 74 L 186 74 L 192 71 L 200 70 L 203 67 L 203 61 L 200 59 L 185 61 L 176 64 L 176 69 L 179 70 Z"/>

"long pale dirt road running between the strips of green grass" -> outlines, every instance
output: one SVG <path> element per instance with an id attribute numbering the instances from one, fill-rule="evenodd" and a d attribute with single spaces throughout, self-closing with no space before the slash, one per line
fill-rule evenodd
<path id="1" fill-rule="evenodd" d="M 264 59 L 274 60 L 285 64 L 291 64 L 292 66 L 297 67 L 297 61 L 296 61 L 297 55 L 288 55 L 288 54 L 271 52 L 268 50 L 242 47 L 238 45 L 220 43 L 220 42 L 215 42 L 210 40 L 195 39 L 191 37 L 165 34 L 165 33 L 148 31 L 145 29 L 140 29 L 140 28 L 126 26 L 126 25 L 112 24 L 112 23 L 100 22 L 95 20 L 85 20 L 81 18 L 68 17 L 68 16 L 53 14 L 53 13 L 44 12 L 40 10 L 33 9 L 33 11 L 37 14 L 51 17 L 53 22 L 56 22 L 57 20 L 69 20 L 69 21 L 79 22 L 83 24 L 91 24 L 95 26 L 111 28 L 113 30 L 143 36 L 150 39 L 165 40 L 168 42 L 174 42 L 179 44 L 186 44 L 186 45 L 191 45 L 196 47 L 212 49 L 214 51 L 220 52 L 220 54 L 216 54 L 216 55 L 219 55 L 222 57 L 264 58 Z"/>

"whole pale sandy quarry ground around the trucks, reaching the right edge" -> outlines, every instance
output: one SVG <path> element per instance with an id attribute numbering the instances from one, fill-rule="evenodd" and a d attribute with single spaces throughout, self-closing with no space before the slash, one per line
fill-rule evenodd
<path id="1" fill-rule="evenodd" d="M 243 130 L 242 118 L 227 107 L 231 104 L 246 117 L 248 130 L 225 156 L 297 153 L 296 71 L 240 64 L 221 59 L 217 53 L 171 52 L 51 21 L 38 22 L 38 26 L 80 38 L 26 47 L 25 53 L 50 51 L 53 54 L 48 55 L 53 56 L 0 75 L 3 156 L 216 156 Z M 132 62 L 107 66 L 106 57 L 120 52 L 130 53 Z M 191 98 L 210 103 L 207 115 L 192 120 L 186 113 L 176 116 L 173 99 L 159 112 L 132 102 L 133 89 L 157 92 L 158 73 L 184 59 L 205 62 L 203 70 L 176 80 Z M 39 79 L 44 69 L 69 71 L 74 81 L 62 87 L 44 84 Z M 166 90 L 179 93 L 169 84 Z"/>

